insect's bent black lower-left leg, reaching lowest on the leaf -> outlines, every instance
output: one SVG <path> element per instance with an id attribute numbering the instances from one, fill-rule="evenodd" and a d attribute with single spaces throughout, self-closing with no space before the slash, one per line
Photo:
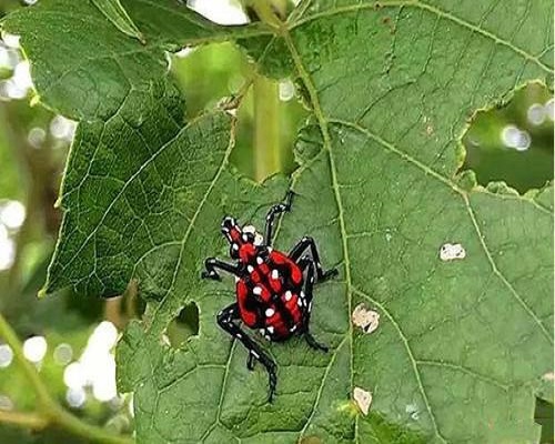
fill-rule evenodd
<path id="1" fill-rule="evenodd" d="M 241 330 L 241 327 L 236 324 L 240 319 L 238 304 L 231 304 L 226 309 L 223 309 L 220 313 L 218 313 L 218 324 L 225 330 L 233 337 L 238 339 L 244 347 L 249 352 L 249 359 L 246 361 L 246 366 L 249 370 L 253 370 L 253 360 L 259 361 L 266 369 L 269 376 L 269 395 L 268 402 L 272 402 L 272 398 L 275 393 L 275 384 L 278 383 L 278 376 L 275 374 L 275 362 L 268 356 L 259 344 L 256 344 L 253 340 L 251 340 L 246 333 Z"/>

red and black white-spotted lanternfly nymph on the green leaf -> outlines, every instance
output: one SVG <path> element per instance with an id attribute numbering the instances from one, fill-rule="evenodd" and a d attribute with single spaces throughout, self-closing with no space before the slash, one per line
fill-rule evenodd
<path id="1" fill-rule="evenodd" d="M 324 272 L 320 254 L 312 238 L 303 238 L 289 254 L 272 249 L 275 216 L 291 210 L 293 193 L 284 203 L 273 205 L 266 215 L 264 235 L 254 226 L 241 228 L 233 218 L 224 218 L 222 233 L 230 243 L 231 264 L 215 258 L 204 262 L 202 278 L 220 280 L 216 269 L 231 273 L 236 282 L 236 302 L 218 313 L 218 324 L 239 340 L 248 350 L 246 366 L 254 369 L 259 361 L 270 379 L 269 402 L 272 402 L 278 377 L 275 362 L 244 330 L 260 330 L 269 341 L 285 341 L 293 335 L 303 336 L 313 349 L 326 352 L 310 333 L 312 290 L 315 282 L 323 282 L 337 274 L 335 269 Z"/>

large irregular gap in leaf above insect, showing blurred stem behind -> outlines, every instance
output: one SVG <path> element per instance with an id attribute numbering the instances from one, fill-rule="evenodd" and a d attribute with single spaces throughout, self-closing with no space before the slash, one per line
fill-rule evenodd
<path id="1" fill-rule="evenodd" d="M 185 98 L 186 119 L 218 105 L 236 115 L 230 161 L 241 174 L 262 182 L 276 172 L 293 172 L 293 143 L 307 111 L 291 79 L 260 75 L 232 43 L 185 48 L 173 56 L 171 67 Z"/>

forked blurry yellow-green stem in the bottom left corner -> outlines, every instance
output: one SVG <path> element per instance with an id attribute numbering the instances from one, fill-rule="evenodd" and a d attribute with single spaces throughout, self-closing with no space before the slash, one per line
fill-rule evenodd
<path id="1" fill-rule="evenodd" d="M 39 412 L 32 414 L 0 411 L 0 423 L 7 422 L 10 424 L 31 428 L 44 428 L 48 425 L 57 425 L 61 428 L 74 433 L 75 435 L 83 436 L 91 442 L 105 444 L 133 443 L 133 440 L 131 438 L 113 435 L 104 431 L 102 427 L 82 422 L 80 418 L 73 416 L 60 404 L 58 404 L 58 402 L 56 402 L 52 396 L 50 396 L 44 383 L 37 372 L 37 369 L 34 369 L 34 366 L 24 357 L 21 342 L 1 313 L 0 336 L 3 337 L 6 343 L 13 351 L 16 361 L 19 363 L 21 370 L 23 371 L 23 374 L 29 380 L 31 387 L 37 394 L 39 407 Z"/>

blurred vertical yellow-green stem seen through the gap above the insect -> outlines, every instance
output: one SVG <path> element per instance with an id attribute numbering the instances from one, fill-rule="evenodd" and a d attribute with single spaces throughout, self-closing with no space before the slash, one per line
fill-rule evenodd
<path id="1" fill-rule="evenodd" d="M 254 178 L 262 182 L 283 169 L 278 83 L 256 75 L 254 95 Z"/>

